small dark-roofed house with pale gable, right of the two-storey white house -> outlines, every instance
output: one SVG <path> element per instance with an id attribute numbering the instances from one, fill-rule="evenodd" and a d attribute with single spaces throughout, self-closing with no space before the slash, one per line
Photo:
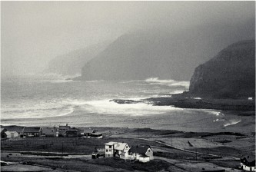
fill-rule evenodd
<path id="1" fill-rule="evenodd" d="M 148 156 L 150 160 L 154 160 L 153 151 L 150 146 L 132 146 L 129 153 L 133 154 L 136 160 L 140 160 L 141 156 L 143 156 L 145 160 L 148 160 L 145 156 Z"/>

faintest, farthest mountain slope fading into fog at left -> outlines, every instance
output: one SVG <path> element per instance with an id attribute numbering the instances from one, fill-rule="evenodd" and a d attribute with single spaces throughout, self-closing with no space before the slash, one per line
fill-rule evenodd
<path id="1" fill-rule="evenodd" d="M 64 75 L 81 74 L 81 68 L 85 63 L 103 51 L 110 43 L 110 41 L 105 41 L 100 44 L 71 51 L 65 55 L 59 55 L 52 61 L 49 61 L 48 72 Z"/>

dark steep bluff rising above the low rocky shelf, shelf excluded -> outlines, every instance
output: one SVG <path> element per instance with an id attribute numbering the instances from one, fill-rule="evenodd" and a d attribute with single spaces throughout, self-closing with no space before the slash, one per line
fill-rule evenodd
<path id="1" fill-rule="evenodd" d="M 229 45 L 195 68 L 189 94 L 201 98 L 255 98 L 255 40 Z"/>

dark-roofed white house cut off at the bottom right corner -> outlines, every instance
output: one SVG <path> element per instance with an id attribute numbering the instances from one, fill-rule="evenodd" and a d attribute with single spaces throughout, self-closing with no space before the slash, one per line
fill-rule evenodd
<path id="1" fill-rule="evenodd" d="M 241 170 L 256 171 L 255 155 L 242 156 L 240 159 Z"/>

